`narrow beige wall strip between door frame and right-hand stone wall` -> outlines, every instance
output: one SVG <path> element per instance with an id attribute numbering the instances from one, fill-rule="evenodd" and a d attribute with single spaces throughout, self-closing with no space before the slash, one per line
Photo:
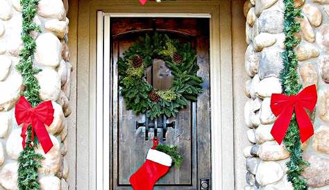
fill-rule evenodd
<path id="1" fill-rule="evenodd" d="M 244 189 L 246 185 L 246 164 L 244 147 L 250 142 L 246 136 L 244 124 L 244 81 L 248 79 L 244 69 L 246 51 L 246 19 L 243 12 L 244 0 L 232 1 L 232 44 L 233 44 L 233 106 L 234 106 L 234 154 L 235 154 L 235 189 Z"/>

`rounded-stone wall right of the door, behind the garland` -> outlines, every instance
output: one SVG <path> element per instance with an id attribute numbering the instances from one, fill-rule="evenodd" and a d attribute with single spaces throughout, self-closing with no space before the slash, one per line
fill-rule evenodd
<path id="1" fill-rule="evenodd" d="M 314 137 L 303 144 L 304 158 L 310 162 L 303 173 L 310 189 L 329 189 L 329 1 L 296 0 L 303 18 L 301 44 L 296 46 L 298 68 L 304 87 L 317 84 L 319 100 L 314 119 Z M 253 143 L 244 149 L 246 157 L 245 189 L 293 189 L 286 180 L 285 162 L 289 153 L 273 141 L 270 134 L 275 116 L 270 110 L 272 93 L 281 93 L 278 79 L 282 68 L 280 53 L 284 49 L 282 0 L 248 0 L 246 16 L 244 107 L 247 136 Z"/>

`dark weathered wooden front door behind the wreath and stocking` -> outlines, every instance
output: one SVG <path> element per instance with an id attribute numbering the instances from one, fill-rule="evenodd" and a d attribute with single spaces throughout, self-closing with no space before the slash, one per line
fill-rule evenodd
<path id="1" fill-rule="evenodd" d="M 131 110 L 126 110 L 124 99 L 119 94 L 117 60 L 140 36 L 154 32 L 166 33 L 182 43 L 191 42 L 198 54 L 198 75 L 204 80 L 204 91 L 198 100 L 180 110 L 175 118 L 168 119 L 168 122 L 175 121 L 176 127 L 168 129 L 166 141 L 163 141 L 162 131 L 158 130 L 160 143 L 177 145 L 184 160 L 180 168 L 171 167 L 154 189 L 202 189 L 201 179 L 209 180 L 211 184 L 209 19 L 111 18 L 110 23 L 112 162 L 109 172 L 112 189 L 132 189 L 129 177 L 144 163 L 153 137 L 151 130 L 150 139 L 146 141 L 143 128 L 135 127 L 136 121 L 145 121 L 145 116 L 136 116 Z M 165 63 L 155 59 L 153 66 L 146 71 L 146 80 L 156 89 L 168 89 L 172 76 Z"/>

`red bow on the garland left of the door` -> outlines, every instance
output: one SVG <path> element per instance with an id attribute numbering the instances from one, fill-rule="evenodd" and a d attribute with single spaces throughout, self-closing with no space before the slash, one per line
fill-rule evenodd
<path id="1" fill-rule="evenodd" d="M 53 143 L 49 137 L 47 129 L 44 125 L 50 126 L 53 123 L 53 105 L 51 101 L 45 101 L 37 105 L 37 107 L 31 107 L 24 96 L 21 96 L 15 105 L 15 118 L 17 124 L 20 126 L 23 123 L 22 134 L 23 137 L 22 145 L 25 148 L 26 131 L 28 126 L 32 128 L 31 140 L 34 139 L 34 133 L 37 135 L 44 153 L 53 147 Z"/>

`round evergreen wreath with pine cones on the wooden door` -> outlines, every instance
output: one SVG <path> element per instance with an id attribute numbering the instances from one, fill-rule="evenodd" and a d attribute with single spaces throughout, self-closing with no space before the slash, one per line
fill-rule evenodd
<path id="1" fill-rule="evenodd" d="M 145 70 L 153 58 L 161 58 L 174 76 L 173 86 L 167 90 L 154 89 L 145 79 Z M 168 35 L 155 33 L 140 37 L 119 58 L 119 86 L 128 110 L 135 114 L 146 113 L 155 119 L 158 116 L 175 116 L 189 101 L 196 101 L 203 89 L 203 80 L 196 75 L 196 51 L 189 43 L 180 44 Z"/>

